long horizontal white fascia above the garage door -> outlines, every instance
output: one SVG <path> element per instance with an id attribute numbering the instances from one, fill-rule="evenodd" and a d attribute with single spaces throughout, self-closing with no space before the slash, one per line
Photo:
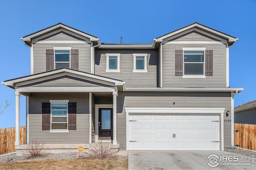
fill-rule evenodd
<path id="1" fill-rule="evenodd" d="M 134 92 L 242 92 L 244 88 L 132 88 L 126 87 L 124 91 L 134 91 Z"/>

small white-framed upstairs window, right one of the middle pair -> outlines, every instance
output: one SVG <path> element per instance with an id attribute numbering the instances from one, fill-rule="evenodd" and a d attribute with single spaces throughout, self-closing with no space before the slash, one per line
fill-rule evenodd
<path id="1" fill-rule="evenodd" d="M 147 56 L 148 54 L 133 54 L 133 72 L 148 72 Z"/>

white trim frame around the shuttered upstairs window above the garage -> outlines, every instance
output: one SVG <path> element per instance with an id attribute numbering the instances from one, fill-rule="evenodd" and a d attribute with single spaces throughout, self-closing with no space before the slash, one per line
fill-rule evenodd
<path id="1" fill-rule="evenodd" d="M 200 74 L 200 75 L 195 75 L 195 74 L 183 74 L 182 78 L 206 78 L 205 76 L 205 50 L 206 48 L 204 47 L 183 47 L 182 48 L 183 50 L 183 73 L 184 72 L 184 69 L 185 69 L 185 63 L 184 63 L 184 51 L 204 51 L 204 70 L 203 70 L 203 73 L 204 74 Z"/>

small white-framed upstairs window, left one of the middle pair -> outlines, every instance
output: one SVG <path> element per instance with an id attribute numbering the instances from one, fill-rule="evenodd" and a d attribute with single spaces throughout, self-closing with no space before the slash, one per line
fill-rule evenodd
<path id="1" fill-rule="evenodd" d="M 120 72 L 120 54 L 106 54 L 106 72 Z"/>

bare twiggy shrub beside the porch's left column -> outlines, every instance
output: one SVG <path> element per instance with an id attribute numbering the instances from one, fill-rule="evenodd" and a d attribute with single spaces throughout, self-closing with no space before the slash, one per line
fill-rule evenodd
<path id="1" fill-rule="evenodd" d="M 38 142 L 36 139 L 31 140 L 29 144 L 25 145 L 25 150 L 23 150 L 23 154 L 29 157 L 33 156 L 46 156 L 49 154 L 49 150 L 46 149 L 45 141 Z"/>

